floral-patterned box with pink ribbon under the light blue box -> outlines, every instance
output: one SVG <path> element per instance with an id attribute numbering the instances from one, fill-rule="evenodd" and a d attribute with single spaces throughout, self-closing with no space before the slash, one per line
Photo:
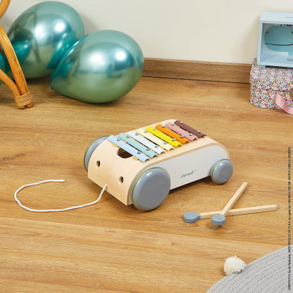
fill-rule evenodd
<path id="1" fill-rule="evenodd" d="M 259 67 L 255 59 L 250 72 L 250 103 L 293 114 L 293 68 Z"/>

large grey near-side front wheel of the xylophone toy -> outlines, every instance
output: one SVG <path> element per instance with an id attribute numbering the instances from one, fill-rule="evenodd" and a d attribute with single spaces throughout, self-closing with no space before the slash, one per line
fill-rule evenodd
<path id="1" fill-rule="evenodd" d="M 163 168 L 151 168 L 140 174 L 130 189 L 133 205 L 142 211 L 160 206 L 170 191 L 170 175 Z"/>

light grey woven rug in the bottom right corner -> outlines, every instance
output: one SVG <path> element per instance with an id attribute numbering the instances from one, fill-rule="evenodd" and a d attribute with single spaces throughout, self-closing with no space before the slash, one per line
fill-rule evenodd
<path id="1" fill-rule="evenodd" d="M 289 257 L 290 256 L 290 257 Z M 291 264 L 289 266 L 289 258 Z M 289 268 L 291 273 L 289 274 Z M 293 246 L 284 247 L 249 263 L 242 273 L 228 275 L 206 293 L 285 293 L 293 291 Z"/>

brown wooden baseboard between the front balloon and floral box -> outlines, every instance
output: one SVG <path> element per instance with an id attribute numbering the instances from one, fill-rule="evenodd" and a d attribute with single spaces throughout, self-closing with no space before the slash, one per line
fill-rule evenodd
<path id="1" fill-rule="evenodd" d="M 186 80 L 249 83 L 250 70 L 251 64 L 145 58 L 143 75 Z"/>

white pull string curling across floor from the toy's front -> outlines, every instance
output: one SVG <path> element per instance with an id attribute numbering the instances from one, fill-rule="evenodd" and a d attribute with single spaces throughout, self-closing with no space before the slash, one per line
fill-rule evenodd
<path id="1" fill-rule="evenodd" d="M 27 185 L 23 185 L 22 187 L 18 188 L 16 190 L 16 192 L 14 193 L 15 201 L 19 204 L 19 206 L 21 206 L 22 208 L 25 208 L 27 211 L 35 211 L 35 212 L 38 212 L 38 213 L 44 213 L 44 212 L 48 212 L 48 211 L 69 211 L 69 210 L 73 210 L 75 208 L 83 208 L 85 206 L 90 206 L 92 204 L 96 204 L 101 199 L 101 196 L 102 196 L 102 194 L 104 193 L 104 191 L 105 191 L 105 189 L 107 187 L 107 185 L 105 185 L 104 188 L 101 189 L 101 193 L 100 193 L 99 197 L 95 201 L 92 201 L 89 204 L 82 204 L 80 206 L 70 206 L 69 208 L 59 208 L 59 209 L 52 209 L 52 210 L 36 210 L 35 208 L 28 208 L 27 206 L 24 206 L 20 202 L 20 200 L 18 199 L 18 192 L 20 192 L 21 189 L 23 189 L 25 187 L 33 186 L 33 185 L 39 185 L 39 184 L 46 183 L 46 182 L 65 182 L 65 180 L 63 180 L 63 179 L 60 179 L 60 180 L 50 179 L 50 180 L 44 180 L 44 181 L 40 181 L 40 182 L 36 182 L 36 183 L 30 183 L 30 184 L 27 184 Z"/>

